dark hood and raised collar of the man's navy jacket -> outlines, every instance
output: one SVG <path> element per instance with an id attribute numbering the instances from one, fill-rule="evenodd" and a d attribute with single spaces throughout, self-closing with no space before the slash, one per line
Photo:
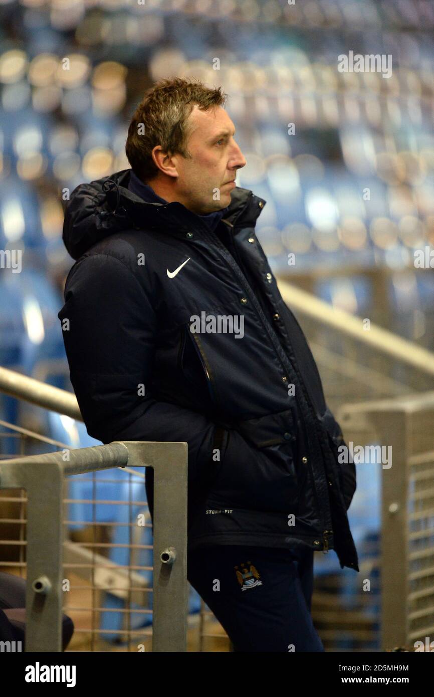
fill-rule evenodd
<path id="1" fill-rule="evenodd" d="M 187 229 L 201 224 L 198 216 L 183 204 L 148 203 L 128 189 L 131 169 L 79 184 L 71 194 L 63 221 L 63 243 L 72 259 L 79 259 L 95 243 L 115 232 L 160 229 L 164 211 L 164 229 Z M 249 189 L 235 187 L 224 220 L 232 227 L 254 225 L 265 205 Z M 205 224 L 205 223 L 203 223 Z"/>

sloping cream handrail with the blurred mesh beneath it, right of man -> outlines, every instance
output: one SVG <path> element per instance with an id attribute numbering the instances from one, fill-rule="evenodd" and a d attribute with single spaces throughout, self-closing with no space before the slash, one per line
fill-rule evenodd
<path id="1" fill-rule="evenodd" d="M 434 390 L 434 353 L 279 279 L 323 380 L 327 404 Z"/>

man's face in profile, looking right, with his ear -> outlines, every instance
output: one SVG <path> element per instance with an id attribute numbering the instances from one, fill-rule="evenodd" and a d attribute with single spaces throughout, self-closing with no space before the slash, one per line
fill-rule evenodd
<path id="1" fill-rule="evenodd" d="M 176 197 L 193 213 L 206 215 L 231 203 L 235 183 L 228 182 L 246 161 L 233 139 L 235 126 L 222 107 L 203 112 L 195 105 L 189 124 L 187 150 L 192 158 L 172 157 L 178 172 Z"/>

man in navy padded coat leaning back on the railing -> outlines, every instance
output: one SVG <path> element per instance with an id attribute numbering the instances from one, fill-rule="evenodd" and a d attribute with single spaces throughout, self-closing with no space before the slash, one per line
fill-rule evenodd
<path id="1" fill-rule="evenodd" d="M 72 192 L 59 319 L 88 434 L 188 443 L 187 576 L 234 650 L 323 651 L 313 551 L 359 570 L 355 467 L 256 238 L 265 201 L 235 185 L 225 100 L 177 78 L 146 92 L 132 170 Z M 152 470 L 146 491 L 153 516 Z"/>

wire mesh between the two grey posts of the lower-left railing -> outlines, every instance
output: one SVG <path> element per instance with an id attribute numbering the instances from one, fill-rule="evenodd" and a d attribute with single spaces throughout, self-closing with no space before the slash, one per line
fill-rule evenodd
<path id="1" fill-rule="evenodd" d="M 152 650 L 152 523 L 144 473 L 105 470 L 65 481 L 68 650 Z"/>

